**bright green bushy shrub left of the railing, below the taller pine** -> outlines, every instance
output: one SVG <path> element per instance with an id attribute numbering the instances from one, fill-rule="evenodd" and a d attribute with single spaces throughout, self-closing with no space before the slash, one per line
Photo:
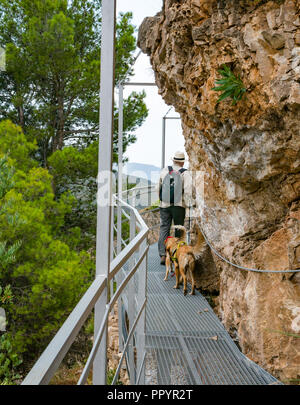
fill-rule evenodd
<path id="1" fill-rule="evenodd" d="M 12 346 L 7 348 L 24 353 L 25 363 L 42 352 L 86 291 L 94 262 L 87 252 L 75 250 L 78 229 L 71 240 L 65 234 L 74 198 L 69 193 L 55 198 L 52 176 L 36 167 L 20 129 L 0 123 L 0 145 L 13 173 L 0 197 L 0 250 L 15 257 L 0 261 L 0 285 L 11 285 L 15 297 L 7 310 Z"/>

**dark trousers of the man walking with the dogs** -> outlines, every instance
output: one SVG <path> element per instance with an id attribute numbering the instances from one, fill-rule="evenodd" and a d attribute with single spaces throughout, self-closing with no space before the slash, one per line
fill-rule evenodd
<path id="1" fill-rule="evenodd" d="M 170 228 L 172 225 L 172 220 L 174 225 L 184 225 L 185 219 L 185 208 L 175 207 L 171 205 L 168 208 L 160 208 L 160 232 L 158 240 L 158 252 L 160 256 L 165 256 L 165 240 L 170 235 Z M 181 231 L 178 229 L 175 230 L 175 236 L 179 237 Z"/>

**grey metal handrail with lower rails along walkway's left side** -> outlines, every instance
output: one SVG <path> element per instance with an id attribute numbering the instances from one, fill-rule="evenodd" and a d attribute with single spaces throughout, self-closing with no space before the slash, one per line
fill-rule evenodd
<path id="1" fill-rule="evenodd" d="M 96 302 L 100 299 L 102 293 L 107 288 L 109 282 L 114 278 L 114 276 L 119 272 L 119 270 L 124 266 L 128 259 L 137 251 L 143 241 L 145 241 L 149 228 L 143 221 L 142 217 L 138 211 L 127 204 L 125 201 L 121 200 L 115 196 L 116 202 L 129 208 L 134 213 L 137 225 L 140 226 L 139 233 L 133 238 L 133 240 L 111 261 L 110 272 L 108 275 L 108 280 L 105 276 L 97 276 L 93 281 L 91 286 L 88 288 L 84 296 L 81 298 L 79 303 L 73 309 L 71 314 L 68 316 L 67 320 L 64 322 L 62 327 L 59 329 L 57 334 L 54 336 L 50 344 L 44 350 L 40 358 L 37 360 L 33 368 L 30 370 L 29 374 L 26 376 L 22 385 L 45 385 L 48 384 L 53 377 L 54 373 L 57 371 L 62 360 L 70 349 L 72 343 L 74 342 L 76 336 L 78 335 L 80 329 L 82 328 L 84 322 L 87 320 L 88 316 L 92 312 Z M 93 345 L 92 351 L 90 353 L 88 362 L 84 368 L 84 371 L 80 377 L 79 384 L 86 381 L 88 377 L 88 372 L 92 365 L 92 360 L 97 353 L 97 349 L 101 342 L 103 336 L 104 327 L 108 321 L 108 314 L 110 313 L 113 305 L 117 301 L 120 294 L 126 288 L 126 285 L 136 273 L 142 261 L 144 260 L 148 251 L 148 247 L 141 254 L 137 263 L 134 265 L 133 269 L 127 275 L 126 279 L 118 287 L 117 291 L 111 298 L 109 304 L 107 304 L 107 309 L 102 319 L 102 325 L 99 329 L 96 341 Z M 144 308 L 144 306 L 143 306 Z M 140 315 L 140 314 L 139 314 Z M 136 326 L 136 325 L 135 325 Z M 131 336 L 128 337 L 130 339 Z M 127 342 L 126 342 L 127 343 Z M 125 343 L 125 344 L 126 344 Z M 126 345 L 127 347 L 127 345 Z"/>

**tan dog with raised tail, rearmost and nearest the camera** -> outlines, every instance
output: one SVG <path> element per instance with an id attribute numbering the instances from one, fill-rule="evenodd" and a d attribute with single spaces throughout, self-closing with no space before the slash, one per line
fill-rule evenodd
<path id="1" fill-rule="evenodd" d="M 187 272 L 190 272 L 192 279 L 192 290 L 190 295 L 195 294 L 195 266 L 196 255 L 201 254 L 206 248 L 206 242 L 199 227 L 197 227 L 197 242 L 194 246 L 179 246 L 176 251 L 175 275 L 176 284 L 174 288 L 179 288 L 183 280 L 183 294 L 187 294 Z"/>

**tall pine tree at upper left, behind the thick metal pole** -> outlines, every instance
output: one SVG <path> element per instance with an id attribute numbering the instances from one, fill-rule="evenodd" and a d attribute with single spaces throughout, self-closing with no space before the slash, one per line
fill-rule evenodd
<path id="1" fill-rule="evenodd" d="M 131 13 L 117 23 L 116 82 L 128 79 L 136 49 Z M 0 119 L 36 139 L 36 158 L 66 144 L 85 147 L 98 138 L 101 2 L 99 0 L 0 0 Z M 147 116 L 145 94 L 125 100 L 124 147 Z M 105 102 L 105 101 L 104 101 Z"/>

